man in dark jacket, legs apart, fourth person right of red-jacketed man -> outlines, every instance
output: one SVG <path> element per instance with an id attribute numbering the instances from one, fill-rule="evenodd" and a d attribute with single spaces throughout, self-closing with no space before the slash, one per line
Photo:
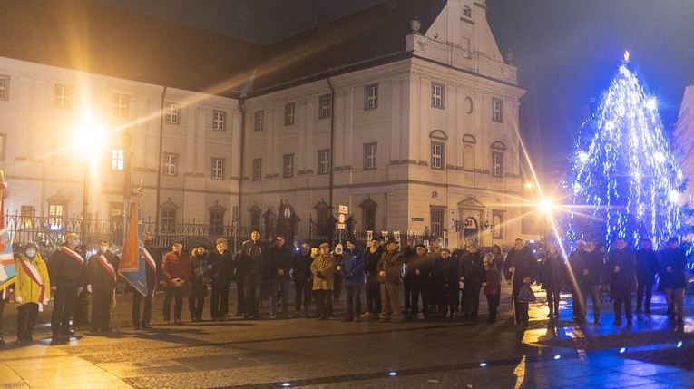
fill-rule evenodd
<path id="1" fill-rule="evenodd" d="M 282 317 L 289 317 L 289 270 L 294 246 L 285 242 L 283 237 L 277 237 L 275 244 L 268 249 L 269 255 L 269 290 L 270 318 L 277 316 L 277 289 L 282 295 Z"/>

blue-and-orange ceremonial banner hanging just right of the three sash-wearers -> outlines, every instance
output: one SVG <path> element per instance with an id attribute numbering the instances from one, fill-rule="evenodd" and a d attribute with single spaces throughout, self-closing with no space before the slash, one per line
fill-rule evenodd
<path id="1" fill-rule="evenodd" d="M 122 247 L 121 263 L 118 273 L 132 285 L 142 296 L 147 296 L 147 273 L 145 257 L 142 253 L 142 225 L 140 223 L 140 199 L 135 200 L 132 207 L 132 217 L 128 231 L 125 233 L 125 242 Z"/>

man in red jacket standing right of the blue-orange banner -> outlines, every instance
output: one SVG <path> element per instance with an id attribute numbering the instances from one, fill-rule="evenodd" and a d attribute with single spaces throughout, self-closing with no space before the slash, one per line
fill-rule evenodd
<path id="1" fill-rule="evenodd" d="M 161 262 L 161 272 L 164 276 L 164 326 L 171 323 L 171 300 L 175 299 L 173 306 L 173 323 L 181 325 L 181 314 L 183 313 L 183 296 L 185 295 L 186 283 L 191 276 L 191 257 L 181 252 L 183 242 L 174 240 L 171 244 L 172 250 L 164 256 Z"/>

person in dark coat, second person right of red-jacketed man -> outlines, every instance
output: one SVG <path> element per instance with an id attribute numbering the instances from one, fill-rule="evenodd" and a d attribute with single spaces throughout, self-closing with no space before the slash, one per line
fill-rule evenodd
<path id="1" fill-rule="evenodd" d="M 227 249 L 229 242 L 219 238 L 210 251 L 210 283 L 212 285 L 211 315 L 213 321 L 229 320 L 229 288 L 234 274 L 234 258 Z"/>

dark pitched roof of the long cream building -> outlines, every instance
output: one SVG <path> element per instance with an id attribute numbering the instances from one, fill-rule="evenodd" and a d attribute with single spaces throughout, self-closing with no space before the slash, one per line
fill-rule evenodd
<path id="1" fill-rule="evenodd" d="M 425 32 L 445 4 L 389 0 L 261 46 L 85 1 L 9 0 L 0 2 L 0 56 L 193 92 L 252 96 L 406 58 L 410 20 L 417 17 Z"/>

